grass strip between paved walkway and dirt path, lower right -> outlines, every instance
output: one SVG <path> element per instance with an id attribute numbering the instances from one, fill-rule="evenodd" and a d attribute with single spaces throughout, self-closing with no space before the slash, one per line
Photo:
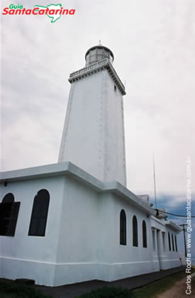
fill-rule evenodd
<path id="1" fill-rule="evenodd" d="M 195 269 L 191 269 L 191 273 L 195 272 Z M 162 280 L 157 282 L 152 282 L 152 284 L 147 285 L 145 287 L 140 287 L 139 289 L 134 289 L 133 294 L 135 298 L 152 298 L 155 295 L 165 292 L 166 289 L 170 289 L 172 285 L 174 285 L 177 280 L 182 280 L 182 278 L 186 277 L 186 272 L 182 271 L 179 273 L 175 273 L 174 275 L 170 275 L 169 277 L 165 277 Z"/>

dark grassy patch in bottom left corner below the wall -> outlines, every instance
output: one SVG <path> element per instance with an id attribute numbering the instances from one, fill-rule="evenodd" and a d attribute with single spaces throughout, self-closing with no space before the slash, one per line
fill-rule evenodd
<path id="1" fill-rule="evenodd" d="M 45 296 L 33 287 L 18 284 L 17 282 L 0 281 L 1 298 L 52 298 Z"/>

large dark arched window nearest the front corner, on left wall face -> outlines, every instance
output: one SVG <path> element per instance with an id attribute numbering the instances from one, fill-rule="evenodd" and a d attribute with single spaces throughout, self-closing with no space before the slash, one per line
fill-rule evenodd
<path id="1" fill-rule="evenodd" d="M 28 236 L 45 236 L 49 204 L 50 194 L 48 190 L 40 189 L 33 202 Z"/>

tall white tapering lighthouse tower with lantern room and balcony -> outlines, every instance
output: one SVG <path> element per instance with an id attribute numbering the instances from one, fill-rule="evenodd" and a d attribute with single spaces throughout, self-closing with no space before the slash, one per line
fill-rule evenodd
<path id="1" fill-rule="evenodd" d="M 101 181 L 126 186 L 125 87 L 113 68 L 111 50 L 96 45 L 87 50 L 85 60 L 85 67 L 69 76 L 58 161 L 72 162 Z"/>

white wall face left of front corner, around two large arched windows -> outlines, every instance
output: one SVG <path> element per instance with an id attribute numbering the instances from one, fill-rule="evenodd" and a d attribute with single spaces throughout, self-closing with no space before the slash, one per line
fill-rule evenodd
<path id="1" fill-rule="evenodd" d="M 45 237 L 28 236 L 33 200 L 40 189 L 50 193 Z M 0 273 L 10 279 L 29 278 L 38 284 L 52 285 L 55 275 L 60 211 L 64 196 L 64 178 L 9 182 L 1 185 L 1 201 L 12 192 L 21 202 L 15 236 L 0 236 Z M 0 201 L 0 202 L 1 202 Z"/>

